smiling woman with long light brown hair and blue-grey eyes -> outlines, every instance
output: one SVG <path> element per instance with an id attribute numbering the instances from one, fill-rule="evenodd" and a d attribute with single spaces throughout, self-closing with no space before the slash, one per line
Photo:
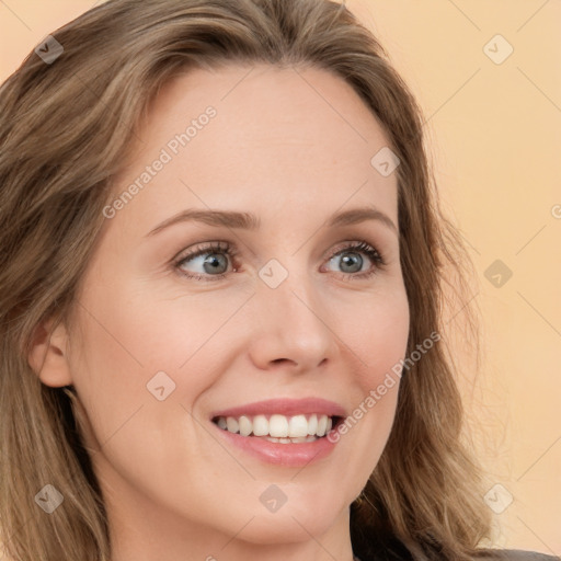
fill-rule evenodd
<path id="1" fill-rule="evenodd" d="M 112 0 L 0 106 L 8 556 L 552 559 L 478 548 L 466 257 L 344 7 Z"/>

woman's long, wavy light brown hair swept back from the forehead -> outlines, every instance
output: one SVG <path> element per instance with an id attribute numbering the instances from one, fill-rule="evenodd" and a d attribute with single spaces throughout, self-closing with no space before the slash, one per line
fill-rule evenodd
<path id="1" fill-rule="evenodd" d="M 66 321 L 154 94 L 178 72 L 224 62 L 312 66 L 350 83 L 399 156 L 408 356 L 444 333 L 445 272 L 465 294 L 467 253 L 443 217 L 414 98 L 377 39 L 328 0 L 110 0 L 54 33 L 0 89 L 0 520 L 22 561 L 105 560 L 103 497 L 71 387 L 30 368 L 33 334 Z M 374 154 L 373 154 L 374 156 Z M 445 343 L 445 341 L 443 341 Z M 462 444 L 454 360 L 437 344 L 402 376 L 385 451 L 351 508 L 355 554 L 462 561 L 490 537 L 481 470 Z M 38 516 L 45 484 L 65 506 Z M 43 514 L 43 513 L 42 513 Z"/>

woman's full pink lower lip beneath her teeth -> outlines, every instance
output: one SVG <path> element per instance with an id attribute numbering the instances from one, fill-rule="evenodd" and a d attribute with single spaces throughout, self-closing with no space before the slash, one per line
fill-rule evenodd
<path id="1" fill-rule="evenodd" d="M 328 437 L 318 438 L 312 443 L 280 444 L 256 438 L 253 436 L 241 436 L 213 425 L 222 435 L 222 438 L 249 455 L 266 462 L 277 466 L 302 467 L 325 458 L 333 451 L 336 442 L 332 443 Z"/>

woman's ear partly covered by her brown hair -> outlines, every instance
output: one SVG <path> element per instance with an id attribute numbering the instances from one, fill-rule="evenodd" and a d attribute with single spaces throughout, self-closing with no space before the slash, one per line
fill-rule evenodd
<path id="1" fill-rule="evenodd" d="M 54 320 L 47 320 L 35 329 L 27 362 L 41 381 L 59 388 L 72 383 L 68 363 L 68 333 L 60 322 L 51 335 Z"/>

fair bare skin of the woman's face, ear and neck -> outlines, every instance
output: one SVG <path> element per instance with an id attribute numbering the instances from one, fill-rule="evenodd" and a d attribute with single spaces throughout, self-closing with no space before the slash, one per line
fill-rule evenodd
<path id="1" fill-rule="evenodd" d="M 106 220 L 76 321 L 38 337 L 30 364 L 46 385 L 72 383 L 83 403 L 112 561 L 351 561 L 348 506 L 383 450 L 399 383 L 305 468 L 225 445 L 210 414 L 302 397 L 351 413 L 404 357 L 397 232 L 379 220 L 323 226 L 373 206 L 398 225 L 396 174 L 370 164 L 388 141 L 352 88 L 323 70 L 196 69 L 161 90 L 115 195 L 209 105 L 216 116 Z M 261 227 L 183 222 L 147 237 L 187 208 L 251 211 Z M 376 272 L 357 278 L 331 257 L 362 240 L 386 264 L 360 252 L 360 272 Z M 238 253 L 225 277 L 174 268 L 174 257 L 218 241 Z M 183 272 L 205 274 L 205 256 Z M 271 259 L 288 272 L 276 288 L 259 276 Z M 175 382 L 163 401 L 146 387 L 158 371 Z M 287 496 L 275 513 L 260 501 L 272 483 Z"/>

